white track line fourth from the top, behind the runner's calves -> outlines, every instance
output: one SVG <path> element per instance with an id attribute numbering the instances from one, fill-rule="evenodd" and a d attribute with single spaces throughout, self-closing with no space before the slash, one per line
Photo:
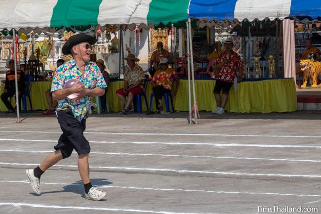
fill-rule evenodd
<path id="1" fill-rule="evenodd" d="M 3 163 L 0 165 L 12 166 L 39 166 L 39 164 L 23 164 L 23 163 Z M 77 165 L 54 165 L 55 167 L 78 168 Z M 223 175 L 244 175 L 244 176 L 272 176 L 272 177 L 305 177 L 305 178 L 321 178 L 321 175 L 314 174 L 262 174 L 262 173 L 236 173 L 228 171 L 193 171 L 193 170 L 173 170 L 173 169 L 154 169 L 154 168 L 133 168 L 133 167 L 97 167 L 89 166 L 91 169 L 108 169 L 108 170 L 128 170 L 128 171 L 153 171 L 153 172 L 176 172 L 176 173 L 199 173 L 199 174 L 223 174 Z"/>

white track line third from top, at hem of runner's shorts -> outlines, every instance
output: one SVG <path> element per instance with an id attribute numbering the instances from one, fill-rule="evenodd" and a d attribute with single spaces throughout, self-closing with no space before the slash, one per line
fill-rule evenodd
<path id="1" fill-rule="evenodd" d="M 9 150 L 0 149 L 0 152 L 35 152 L 35 153 L 51 153 L 52 150 Z M 77 152 L 73 152 L 77 153 Z M 280 158 L 245 158 L 245 157 L 224 157 L 224 156 L 197 156 L 197 155 L 162 155 L 162 154 L 144 154 L 144 153 L 120 153 L 120 152 L 90 152 L 90 154 L 102 155 L 122 155 L 122 156 L 159 156 L 159 157 L 182 157 L 182 158 L 217 158 L 217 159 L 237 159 L 237 160 L 258 160 L 258 161 L 290 161 L 290 162 L 313 162 L 318 163 L 321 160 L 306 159 L 280 159 Z"/>

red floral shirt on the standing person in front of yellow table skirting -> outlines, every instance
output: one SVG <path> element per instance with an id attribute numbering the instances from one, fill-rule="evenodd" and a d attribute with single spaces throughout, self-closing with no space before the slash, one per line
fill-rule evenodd
<path id="1" fill-rule="evenodd" d="M 221 63 L 227 59 L 227 52 L 221 53 L 217 58 L 217 63 Z M 218 80 L 233 83 L 236 72 L 242 67 L 241 56 L 236 52 L 231 52 L 229 62 L 224 64 L 218 75 Z"/>

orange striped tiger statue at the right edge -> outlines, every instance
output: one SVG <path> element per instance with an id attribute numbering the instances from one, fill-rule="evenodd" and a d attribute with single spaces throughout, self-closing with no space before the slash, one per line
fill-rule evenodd
<path id="1" fill-rule="evenodd" d="M 318 76 L 321 74 L 321 62 L 315 62 L 313 59 L 301 59 L 300 67 L 304 74 L 301 87 L 307 86 L 308 77 L 312 79 L 312 87 L 317 87 Z"/>

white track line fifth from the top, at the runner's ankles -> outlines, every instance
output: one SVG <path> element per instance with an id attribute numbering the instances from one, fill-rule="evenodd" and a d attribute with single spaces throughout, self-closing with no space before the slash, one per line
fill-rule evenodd
<path id="1" fill-rule="evenodd" d="M 0 180 L 0 182 L 7 183 L 28 183 L 29 181 L 13 181 L 13 180 Z M 83 184 L 76 183 L 51 183 L 41 182 L 47 185 L 66 185 L 66 186 L 83 186 Z M 274 195 L 274 196 L 298 196 L 298 197 L 321 197 L 321 195 L 306 195 L 306 194 L 289 194 L 289 193 L 269 193 L 269 192 L 234 192 L 234 191 L 214 191 L 214 190 L 190 190 L 190 189 L 165 189 L 165 188 L 146 188 L 146 187 L 128 187 L 128 186 L 111 186 L 101 185 L 99 188 L 120 188 L 120 189 L 139 189 L 139 190 L 153 190 L 153 191 L 182 191 L 182 192 L 201 192 L 201 193 L 215 193 L 215 194 L 250 194 L 250 195 Z"/>

